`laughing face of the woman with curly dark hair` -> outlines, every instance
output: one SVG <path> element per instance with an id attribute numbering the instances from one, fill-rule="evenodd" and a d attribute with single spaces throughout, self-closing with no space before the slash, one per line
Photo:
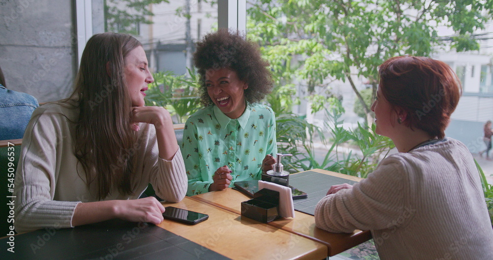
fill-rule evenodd
<path id="1" fill-rule="evenodd" d="M 229 118 L 240 117 L 246 109 L 245 89 L 248 85 L 238 78 L 236 72 L 222 68 L 208 70 L 206 87 L 212 102 Z"/>

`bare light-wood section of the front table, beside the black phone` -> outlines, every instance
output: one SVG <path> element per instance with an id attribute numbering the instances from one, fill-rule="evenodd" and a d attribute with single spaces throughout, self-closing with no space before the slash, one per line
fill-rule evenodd
<path id="1" fill-rule="evenodd" d="M 278 227 L 259 223 L 193 197 L 163 202 L 209 215 L 196 225 L 164 220 L 158 226 L 231 259 L 325 259 L 327 247 Z M 201 252 L 197 252 L 200 256 Z"/>

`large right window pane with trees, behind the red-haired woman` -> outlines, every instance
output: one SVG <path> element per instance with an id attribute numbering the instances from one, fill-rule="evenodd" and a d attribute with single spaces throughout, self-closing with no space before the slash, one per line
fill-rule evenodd
<path id="1" fill-rule="evenodd" d="M 484 1 L 474 2 L 463 6 L 452 1 L 444 5 L 393 0 L 247 1 L 247 37 L 261 46 L 275 80 L 266 102 L 278 116 L 295 114 L 322 130 L 307 131 L 307 139 L 300 139 L 322 144 L 304 147 L 306 153 L 301 156 L 311 166 L 338 172 L 352 168 L 363 176 L 364 166 L 354 154 L 360 159 L 373 156 L 375 161 L 380 155 L 366 154 L 368 144 L 365 148 L 361 140 L 365 134 L 358 133 L 361 126 L 368 129 L 373 122 L 370 106 L 378 86 L 377 68 L 390 57 L 406 54 L 452 65 L 465 93 L 459 105 L 471 102 L 485 111 L 481 116 L 453 117 L 446 132 L 476 152 L 484 118 L 493 119 L 489 103 L 473 101 L 473 97 L 491 99 L 486 83 L 490 72 L 480 74 L 480 68 L 491 64 L 493 43 L 489 37 L 477 36 L 491 35 L 493 26 Z M 458 115 L 468 112 L 467 106 L 456 110 Z M 346 138 L 344 130 L 352 136 L 345 143 L 350 149 L 346 157 L 331 159 L 327 151 L 337 154 L 332 145 Z M 328 146 L 317 150 L 324 138 Z M 334 164 L 347 168 L 336 169 Z"/>

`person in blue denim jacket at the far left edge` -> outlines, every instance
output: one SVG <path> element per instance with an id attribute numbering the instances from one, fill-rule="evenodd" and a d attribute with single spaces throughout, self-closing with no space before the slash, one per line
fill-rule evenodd
<path id="1" fill-rule="evenodd" d="M 35 97 L 8 90 L 0 68 L 0 140 L 21 139 L 38 106 Z"/>

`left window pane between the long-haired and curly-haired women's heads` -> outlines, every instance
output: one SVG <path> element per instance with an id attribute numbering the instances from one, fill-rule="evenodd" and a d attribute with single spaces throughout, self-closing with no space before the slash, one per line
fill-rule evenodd
<path id="1" fill-rule="evenodd" d="M 92 3 L 92 33 L 131 34 L 142 43 L 154 76 L 146 91 L 146 104 L 165 107 L 175 123 L 184 123 L 200 108 L 192 65 L 194 43 L 217 30 L 218 3 L 212 0 L 93 0 Z"/>

